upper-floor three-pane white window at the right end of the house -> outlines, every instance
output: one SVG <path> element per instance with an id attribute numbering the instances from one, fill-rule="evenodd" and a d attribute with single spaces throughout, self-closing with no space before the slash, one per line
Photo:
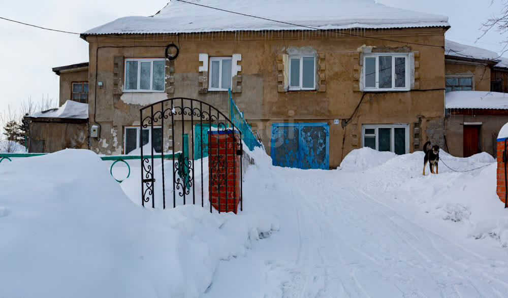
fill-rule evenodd
<path id="1" fill-rule="evenodd" d="M 409 90 L 408 53 L 365 53 L 363 59 L 365 91 Z"/>

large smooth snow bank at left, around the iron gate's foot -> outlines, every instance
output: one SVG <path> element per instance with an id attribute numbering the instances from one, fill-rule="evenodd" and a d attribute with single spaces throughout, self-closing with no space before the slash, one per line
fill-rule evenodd
<path id="1" fill-rule="evenodd" d="M 2 297 L 197 297 L 219 260 L 278 228 L 256 194 L 239 215 L 139 207 L 88 150 L 2 164 L 0 188 Z"/>

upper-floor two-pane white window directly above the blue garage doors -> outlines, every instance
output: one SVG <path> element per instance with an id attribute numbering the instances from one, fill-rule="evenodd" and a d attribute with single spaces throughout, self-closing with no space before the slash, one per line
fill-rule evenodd
<path id="1" fill-rule="evenodd" d="M 289 73 L 290 90 L 315 90 L 315 56 L 290 56 Z"/>

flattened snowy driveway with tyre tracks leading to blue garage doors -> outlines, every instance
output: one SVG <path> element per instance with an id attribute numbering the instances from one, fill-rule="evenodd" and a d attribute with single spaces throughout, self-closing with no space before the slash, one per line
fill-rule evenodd
<path id="1" fill-rule="evenodd" d="M 258 195 L 274 196 L 281 207 L 280 230 L 269 241 L 277 243 L 272 249 L 282 247 L 287 253 L 264 251 L 266 244 L 260 243 L 257 251 L 247 254 L 246 258 L 256 254 L 257 260 L 264 260 L 267 284 L 249 297 L 503 297 L 508 293 L 508 283 L 503 281 L 507 261 L 440 236 L 407 218 L 402 209 L 387 205 L 393 202 L 391 190 L 403 186 L 387 182 L 397 177 L 275 167 L 267 172 Z M 275 176 L 283 183 L 275 185 Z"/>

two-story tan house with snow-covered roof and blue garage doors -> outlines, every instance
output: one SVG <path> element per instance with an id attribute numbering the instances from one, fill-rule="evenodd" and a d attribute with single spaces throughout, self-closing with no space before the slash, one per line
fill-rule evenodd
<path id="1" fill-rule="evenodd" d="M 89 43 L 90 125 L 101 128 L 90 149 L 139 147 L 139 109 L 166 98 L 227 111 L 228 88 L 281 165 L 290 164 L 278 160 L 288 159 L 284 144 L 302 146 L 294 141 L 311 125 L 323 128 L 312 146 L 326 151 L 326 167 L 362 146 L 400 154 L 426 140 L 443 144 L 447 17 L 371 0 L 199 4 L 173 0 L 154 16 L 81 35 Z M 169 44 L 179 49 L 174 60 L 165 58 Z"/>

